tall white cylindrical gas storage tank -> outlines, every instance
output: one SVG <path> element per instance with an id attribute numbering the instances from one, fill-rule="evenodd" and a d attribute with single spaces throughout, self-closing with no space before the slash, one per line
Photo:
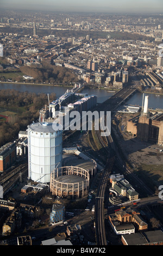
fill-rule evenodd
<path id="1" fill-rule="evenodd" d="M 33 123 L 28 126 L 28 178 L 50 182 L 51 172 L 62 163 L 62 126 Z"/>

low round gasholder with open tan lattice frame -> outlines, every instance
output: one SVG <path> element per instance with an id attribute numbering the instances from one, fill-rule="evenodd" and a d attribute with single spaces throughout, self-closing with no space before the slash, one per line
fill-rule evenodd
<path id="1" fill-rule="evenodd" d="M 50 190 L 59 197 L 83 197 L 89 191 L 90 175 L 83 168 L 65 166 L 51 173 Z"/>

